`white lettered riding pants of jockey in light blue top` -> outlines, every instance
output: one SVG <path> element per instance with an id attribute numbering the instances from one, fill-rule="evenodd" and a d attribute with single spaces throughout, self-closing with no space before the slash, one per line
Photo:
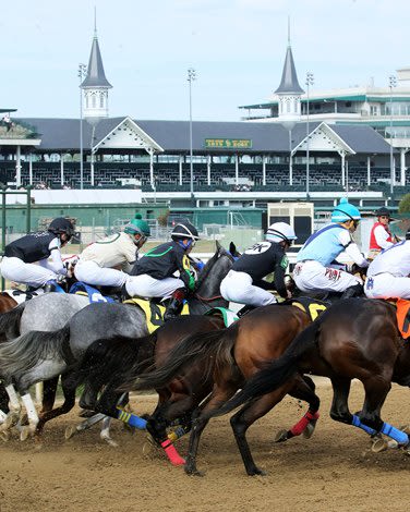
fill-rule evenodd
<path id="1" fill-rule="evenodd" d="M 343 292 L 350 287 L 363 283 L 359 277 L 338 268 L 324 267 L 314 260 L 298 263 L 293 270 L 293 279 L 302 292 Z"/>

